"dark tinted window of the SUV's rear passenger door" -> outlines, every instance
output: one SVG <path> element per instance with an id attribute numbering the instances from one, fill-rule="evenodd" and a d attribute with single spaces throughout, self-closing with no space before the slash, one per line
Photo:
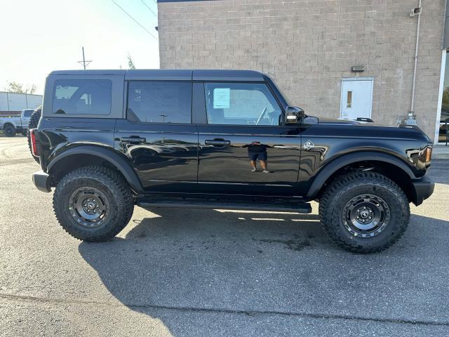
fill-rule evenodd
<path id="1" fill-rule="evenodd" d="M 190 124 L 192 83 L 182 81 L 132 81 L 128 84 L 130 121 Z"/>

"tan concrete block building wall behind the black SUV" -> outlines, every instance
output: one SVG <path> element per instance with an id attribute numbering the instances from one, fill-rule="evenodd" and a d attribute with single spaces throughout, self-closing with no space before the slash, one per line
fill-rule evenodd
<path id="1" fill-rule="evenodd" d="M 372 118 L 410 110 L 417 0 L 159 2 L 161 68 L 259 70 L 306 113 L 340 117 L 343 77 L 374 77 Z M 423 0 L 417 123 L 433 139 L 445 0 Z M 364 65 L 360 74 L 352 65 Z"/>

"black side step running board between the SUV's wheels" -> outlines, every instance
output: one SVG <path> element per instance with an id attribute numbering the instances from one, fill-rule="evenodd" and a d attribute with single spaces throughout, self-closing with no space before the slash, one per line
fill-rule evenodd
<path id="1" fill-rule="evenodd" d="M 277 212 L 295 212 L 301 214 L 311 213 L 309 203 L 236 203 L 227 201 L 141 201 L 138 206 L 144 209 L 152 208 L 177 208 L 177 209 L 236 209 L 239 211 L 277 211 Z"/>

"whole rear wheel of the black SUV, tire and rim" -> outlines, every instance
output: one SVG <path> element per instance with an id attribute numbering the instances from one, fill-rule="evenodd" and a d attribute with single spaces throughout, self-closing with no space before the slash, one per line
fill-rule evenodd
<path id="1" fill-rule="evenodd" d="M 133 194 L 119 173 L 87 166 L 67 173 L 53 194 L 60 225 L 73 237 L 88 242 L 111 239 L 133 216 Z"/>

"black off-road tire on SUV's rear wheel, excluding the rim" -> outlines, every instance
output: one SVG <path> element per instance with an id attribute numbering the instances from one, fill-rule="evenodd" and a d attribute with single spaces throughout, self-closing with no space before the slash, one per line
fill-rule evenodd
<path id="1" fill-rule="evenodd" d="M 98 227 L 81 225 L 69 210 L 72 193 L 81 187 L 102 192 L 109 207 Z M 85 166 L 67 173 L 53 194 L 53 210 L 60 225 L 72 237 L 86 242 L 104 242 L 119 234 L 133 216 L 134 199 L 130 186 L 117 172 L 101 166 Z"/>

